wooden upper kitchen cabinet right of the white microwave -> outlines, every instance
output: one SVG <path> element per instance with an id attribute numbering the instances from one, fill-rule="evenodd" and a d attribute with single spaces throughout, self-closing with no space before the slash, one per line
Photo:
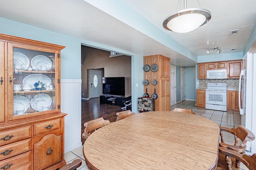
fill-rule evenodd
<path id="1" fill-rule="evenodd" d="M 239 78 L 242 60 L 228 61 L 228 78 Z"/>

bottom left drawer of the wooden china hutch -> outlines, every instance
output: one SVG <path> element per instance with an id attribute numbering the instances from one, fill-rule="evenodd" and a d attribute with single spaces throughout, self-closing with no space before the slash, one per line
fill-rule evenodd
<path id="1" fill-rule="evenodd" d="M 31 160 L 31 151 L 0 161 L 0 168 L 10 167 L 8 168 L 8 170 L 30 170 L 31 169 L 30 160 Z"/>

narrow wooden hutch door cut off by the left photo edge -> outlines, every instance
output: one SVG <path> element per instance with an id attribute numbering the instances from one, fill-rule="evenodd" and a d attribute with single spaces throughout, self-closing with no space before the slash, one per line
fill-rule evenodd
<path id="1" fill-rule="evenodd" d="M 4 122 L 4 41 L 0 41 L 0 122 Z"/>

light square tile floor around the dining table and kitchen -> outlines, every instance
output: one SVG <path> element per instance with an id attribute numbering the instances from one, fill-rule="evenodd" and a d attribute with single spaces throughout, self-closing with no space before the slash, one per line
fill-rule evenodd
<path id="1" fill-rule="evenodd" d="M 174 109 L 174 107 L 192 109 L 196 115 L 206 117 L 207 119 L 214 121 L 215 123 L 217 123 L 219 126 L 222 126 L 222 127 L 236 128 L 239 125 L 241 125 L 241 116 L 239 112 L 217 111 L 217 110 L 197 108 L 195 106 L 195 101 L 189 101 L 189 100 L 185 100 L 183 102 L 180 102 L 178 104 L 171 106 L 171 110 Z M 224 137 L 225 135 L 226 135 L 225 139 L 230 139 L 230 144 L 231 144 L 231 141 L 234 140 L 234 137 L 224 133 Z M 81 158 L 82 165 L 77 170 L 88 170 L 86 163 L 84 161 L 84 155 L 82 150 L 83 150 L 83 146 L 65 153 L 65 160 L 68 164 L 76 158 Z M 240 169 L 248 170 L 248 168 L 244 166 L 244 164 L 242 163 L 241 163 Z"/>

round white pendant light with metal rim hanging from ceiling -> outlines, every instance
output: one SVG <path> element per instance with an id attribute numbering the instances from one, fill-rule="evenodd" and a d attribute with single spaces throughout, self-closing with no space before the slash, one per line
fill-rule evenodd
<path id="1" fill-rule="evenodd" d="M 164 28 L 177 33 L 187 33 L 206 24 L 211 19 L 212 14 L 209 10 L 203 9 L 199 0 L 197 1 L 200 8 L 186 9 L 187 1 L 184 0 L 184 10 L 178 11 L 178 6 L 181 4 L 181 0 L 178 0 L 176 13 L 164 20 Z"/>

